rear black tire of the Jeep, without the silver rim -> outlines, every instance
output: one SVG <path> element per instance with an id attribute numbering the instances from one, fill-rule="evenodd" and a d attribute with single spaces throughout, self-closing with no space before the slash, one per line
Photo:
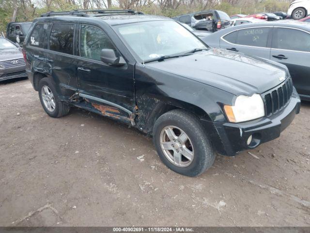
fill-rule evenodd
<path id="1" fill-rule="evenodd" d="M 44 104 L 44 101 L 42 99 L 42 87 L 43 86 L 47 86 L 51 90 L 51 92 L 53 93 L 54 102 L 55 102 L 55 108 L 53 111 L 49 111 Z M 56 88 L 55 88 L 55 84 L 49 78 L 46 77 L 46 78 L 43 78 L 40 80 L 39 86 L 38 86 L 38 91 L 39 91 L 39 98 L 40 98 L 42 107 L 43 107 L 44 111 L 48 114 L 48 116 L 58 118 L 61 116 L 65 116 L 69 113 L 70 106 L 68 104 L 62 102 L 59 99 L 58 93 L 57 93 Z"/>

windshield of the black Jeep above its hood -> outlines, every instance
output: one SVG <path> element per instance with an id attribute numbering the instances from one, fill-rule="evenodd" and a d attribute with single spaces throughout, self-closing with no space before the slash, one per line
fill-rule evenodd
<path id="1" fill-rule="evenodd" d="M 175 21 L 149 21 L 115 26 L 129 47 L 146 62 L 194 49 L 207 49 L 195 35 Z"/>

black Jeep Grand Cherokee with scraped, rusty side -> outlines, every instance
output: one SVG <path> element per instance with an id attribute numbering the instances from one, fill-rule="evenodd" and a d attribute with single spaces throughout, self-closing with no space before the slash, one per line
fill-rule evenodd
<path id="1" fill-rule="evenodd" d="M 299 113 L 279 63 L 210 49 L 169 18 L 91 13 L 48 13 L 27 35 L 28 76 L 49 116 L 76 106 L 129 124 L 153 135 L 168 167 L 196 176 L 216 151 L 256 148 Z"/>

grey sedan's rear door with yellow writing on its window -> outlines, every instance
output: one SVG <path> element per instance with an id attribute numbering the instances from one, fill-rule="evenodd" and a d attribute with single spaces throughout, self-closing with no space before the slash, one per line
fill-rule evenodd
<path id="1" fill-rule="evenodd" d="M 220 47 L 248 55 L 270 59 L 272 27 L 246 28 L 221 38 Z"/>

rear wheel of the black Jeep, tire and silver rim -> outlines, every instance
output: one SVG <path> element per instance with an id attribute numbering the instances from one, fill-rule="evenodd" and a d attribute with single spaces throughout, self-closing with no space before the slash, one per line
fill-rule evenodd
<path id="1" fill-rule="evenodd" d="M 43 109 L 49 116 L 58 118 L 69 113 L 70 106 L 59 100 L 54 83 L 49 78 L 40 80 L 38 90 Z"/>

